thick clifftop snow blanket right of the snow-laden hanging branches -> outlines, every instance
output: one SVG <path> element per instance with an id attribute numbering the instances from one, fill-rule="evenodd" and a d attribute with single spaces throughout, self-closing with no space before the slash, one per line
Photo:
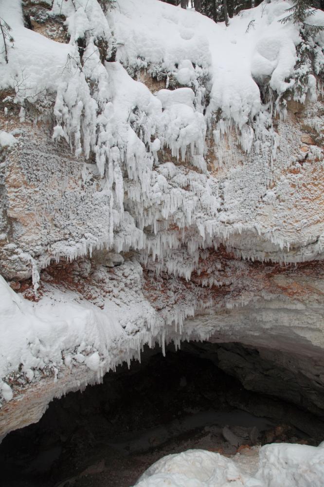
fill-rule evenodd
<path id="1" fill-rule="evenodd" d="M 155 3 L 155 4 L 154 4 Z M 219 108 L 224 119 L 239 129 L 260 111 L 261 100 L 253 78 L 270 75 L 270 86 L 282 94 L 292 86 L 285 79 L 293 74 L 298 29 L 278 23 L 287 2 L 274 1 L 243 11 L 230 27 L 192 11 L 175 11 L 157 2 L 121 2 L 121 14 L 113 13 L 114 32 L 123 47 L 117 51 L 127 69 L 138 66 L 174 75 L 180 84 L 193 84 L 200 70 L 207 70 L 211 83 L 208 115 Z M 139 12 L 134 21 L 132 10 Z M 249 26 L 248 32 L 247 28 Z M 152 29 L 146 32 L 145 25 Z M 144 34 L 145 33 L 145 34 Z M 144 39 L 145 36 L 145 39 Z M 132 39 L 132 42 L 130 41 Z M 193 63 L 198 65 L 194 69 Z M 197 67 L 197 66 L 196 66 Z M 159 71 L 158 71 L 159 72 Z"/>

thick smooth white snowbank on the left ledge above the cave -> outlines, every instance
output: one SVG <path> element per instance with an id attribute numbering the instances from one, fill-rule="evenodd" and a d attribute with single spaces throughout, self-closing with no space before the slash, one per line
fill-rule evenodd
<path id="1" fill-rule="evenodd" d="M 63 366 L 67 351 L 72 352 L 68 364 L 85 362 L 98 377 L 115 366 L 109 361 L 108 348 L 123 342 L 126 334 L 111 310 L 102 312 L 87 302 L 66 302 L 59 293 L 35 306 L 17 295 L 2 277 L 0 294 L 1 377 L 19 367 L 28 380 L 34 378 L 33 371 L 53 372 Z M 105 355 L 105 363 L 100 364 L 99 352 Z M 6 400 L 12 399 L 7 384 L 1 383 L 0 389 Z"/>

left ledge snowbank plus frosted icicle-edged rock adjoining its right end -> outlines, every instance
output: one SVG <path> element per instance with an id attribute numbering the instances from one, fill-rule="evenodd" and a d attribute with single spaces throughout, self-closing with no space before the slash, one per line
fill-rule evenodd
<path id="1" fill-rule="evenodd" d="M 0 400 L 14 397 L 13 378 L 24 387 L 44 375 L 56 381 L 84 367 L 90 372 L 86 380 L 98 382 L 119 363 L 140 358 L 144 343 L 161 337 L 163 320 L 144 299 L 138 263 L 119 265 L 110 278 L 99 267 L 92 277 L 106 280 L 103 309 L 50 284 L 46 296 L 30 302 L 0 276 Z"/>

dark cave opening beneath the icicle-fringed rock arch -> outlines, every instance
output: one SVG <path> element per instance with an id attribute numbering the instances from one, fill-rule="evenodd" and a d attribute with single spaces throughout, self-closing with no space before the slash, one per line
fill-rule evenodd
<path id="1" fill-rule="evenodd" d="M 38 423 L 8 434 L 0 445 L 3 485 L 129 487 L 156 460 L 183 450 L 230 456 L 273 442 L 318 445 L 324 411 L 296 404 L 290 372 L 261 361 L 258 350 L 237 343 L 185 342 L 164 357 L 145 347 L 141 363 L 55 399 Z"/>

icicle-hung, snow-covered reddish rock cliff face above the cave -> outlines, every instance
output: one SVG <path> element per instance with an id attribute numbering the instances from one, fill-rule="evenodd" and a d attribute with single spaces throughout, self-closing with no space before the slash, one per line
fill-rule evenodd
<path id="1" fill-rule="evenodd" d="M 323 408 L 323 34 L 102 3 L 0 7 L 0 436 L 156 341 L 288 354 Z"/>

